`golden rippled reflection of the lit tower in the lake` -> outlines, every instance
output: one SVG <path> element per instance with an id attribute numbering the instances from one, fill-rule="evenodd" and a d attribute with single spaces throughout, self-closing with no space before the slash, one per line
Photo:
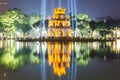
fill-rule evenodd
<path id="1" fill-rule="evenodd" d="M 70 67 L 71 46 L 71 42 L 48 43 L 48 63 L 53 66 L 54 74 L 66 75 L 66 69 Z"/>

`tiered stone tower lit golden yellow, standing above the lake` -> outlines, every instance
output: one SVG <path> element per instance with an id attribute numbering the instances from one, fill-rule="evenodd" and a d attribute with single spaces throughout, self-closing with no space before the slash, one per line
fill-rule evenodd
<path id="1" fill-rule="evenodd" d="M 65 12 L 65 8 L 59 7 L 54 9 L 53 17 L 48 20 L 48 37 L 71 37 L 70 17 Z"/>

